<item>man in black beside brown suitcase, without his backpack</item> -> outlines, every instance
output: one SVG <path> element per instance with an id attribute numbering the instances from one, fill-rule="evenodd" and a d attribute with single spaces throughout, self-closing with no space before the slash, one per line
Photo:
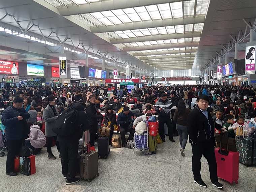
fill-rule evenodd
<path id="1" fill-rule="evenodd" d="M 60 143 L 62 176 L 67 179 L 66 185 L 80 181 L 80 178 L 75 178 L 78 143 L 83 131 L 88 130 L 88 117 L 84 111 L 84 106 L 74 103 L 71 107 L 77 110 L 77 122 L 72 127 L 76 131 L 70 136 L 58 134 L 57 138 Z"/>

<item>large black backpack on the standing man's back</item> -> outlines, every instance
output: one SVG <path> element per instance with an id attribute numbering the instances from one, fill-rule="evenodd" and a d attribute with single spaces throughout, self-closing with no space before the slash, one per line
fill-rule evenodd
<path id="1" fill-rule="evenodd" d="M 61 112 L 57 117 L 53 132 L 61 136 L 70 136 L 74 134 L 78 129 L 78 111 L 73 107 L 68 108 Z"/>

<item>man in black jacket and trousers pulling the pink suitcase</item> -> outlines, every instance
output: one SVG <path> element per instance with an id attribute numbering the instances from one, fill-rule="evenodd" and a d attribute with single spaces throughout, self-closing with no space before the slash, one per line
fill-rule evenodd
<path id="1" fill-rule="evenodd" d="M 214 146 L 214 128 L 225 130 L 222 126 L 213 121 L 213 118 L 207 110 L 209 97 L 200 95 L 197 98 L 197 107 L 195 107 L 188 115 L 187 128 L 189 134 L 189 142 L 192 146 L 192 171 L 194 174 L 194 182 L 201 187 L 207 187 L 202 181 L 200 170 L 202 155 L 209 164 L 210 178 L 212 185 L 221 189 L 223 185 L 218 182 L 217 163 L 215 159 Z"/>

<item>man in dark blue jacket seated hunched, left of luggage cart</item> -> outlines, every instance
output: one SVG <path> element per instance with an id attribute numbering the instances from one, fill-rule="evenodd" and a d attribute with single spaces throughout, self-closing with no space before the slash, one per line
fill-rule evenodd
<path id="1" fill-rule="evenodd" d="M 120 132 L 121 132 L 123 147 L 126 146 L 125 133 L 130 132 L 128 140 L 133 139 L 133 136 L 135 133 L 135 130 L 131 128 L 132 117 L 134 117 L 134 114 L 129 110 L 129 107 L 127 106 L 124 107 L 123 111 L 119 113 L 117 117 L 117 124 L 120 125 Z"/>

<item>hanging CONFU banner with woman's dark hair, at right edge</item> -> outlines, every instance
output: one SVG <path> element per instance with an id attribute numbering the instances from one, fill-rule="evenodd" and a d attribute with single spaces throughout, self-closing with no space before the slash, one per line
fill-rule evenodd
<path id="1" fill-rule="evenodd" d="M 255 74 L 255 42 L 246 43 L 245 74 Z"/>

